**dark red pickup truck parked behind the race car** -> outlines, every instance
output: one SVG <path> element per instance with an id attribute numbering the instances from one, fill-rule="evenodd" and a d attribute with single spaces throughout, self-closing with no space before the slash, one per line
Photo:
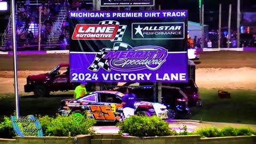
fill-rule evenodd
<path id="1" fill-rule="evenodd" d="M 48 73 L 28 76 L 24 91 L 34 92 L 36 97 L 46 97 L 50 92 L 75 90 L 80 83 L 70 83 L 68 68 L 68 63 L 61 63 Z M 100 85 L 109 90 L 109 85 L 113 87 L 117 83 L 103 83 Z M 87 92 L 95 91 L 95 83 L 87 83 L 85 87 Z"/>

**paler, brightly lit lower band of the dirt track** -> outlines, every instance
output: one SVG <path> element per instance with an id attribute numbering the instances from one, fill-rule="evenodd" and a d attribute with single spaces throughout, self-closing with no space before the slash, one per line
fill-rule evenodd
<path id="1" fill-rule="evenodd" d="M 46 71 L 19 71 L 19 93 L 24 93 L 23 86 L 26 77 L 32 74 L 46 73 Z M 255 68 L 199 68 L 196 69 L 196 84 L 199 87 L 212 89 L 256 89 Z M 0 93 L 14 93 L 13 72 L 0 71 Z"/>

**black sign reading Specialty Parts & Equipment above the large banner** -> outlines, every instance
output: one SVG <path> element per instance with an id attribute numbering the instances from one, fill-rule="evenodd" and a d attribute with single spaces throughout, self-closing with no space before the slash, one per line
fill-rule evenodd
<path id="1" fill-rule="evenodd" d="M 155 0 L 101 0 L 100 6 L 155 6 Z"/>

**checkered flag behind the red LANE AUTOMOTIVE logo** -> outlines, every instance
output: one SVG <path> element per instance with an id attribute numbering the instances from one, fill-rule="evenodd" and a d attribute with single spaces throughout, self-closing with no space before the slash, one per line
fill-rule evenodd
<path id="1" fill-rule="evenodd" d="M 99 25 L 119 25 L 119 22 L 118 21 L 114 21 L 114 20 L 105 20 L 105 21 L 100 21 Z M 114 39 L 111 39 L 111 42 L 122 41 L 125 29 L 126 29 L 126 26 L 124 26 L 124 25 L 120 26 L 119 25 L 119 28 L 118 28 L 118 30 L 116 32 L 116 36 L 115 36 Z"/>

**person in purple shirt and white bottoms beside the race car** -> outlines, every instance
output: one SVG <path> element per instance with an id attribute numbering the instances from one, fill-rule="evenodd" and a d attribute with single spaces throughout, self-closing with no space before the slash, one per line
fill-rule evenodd
<path id="1" fill-rule="evenodd" d="M 124 118 L 134 115 L 134 103 L 137 101 L 135 94 L 132 93 L 131 87 L 128 87 L 126 92 L 127 93 L 124 95 L 122 102 Z"/>

